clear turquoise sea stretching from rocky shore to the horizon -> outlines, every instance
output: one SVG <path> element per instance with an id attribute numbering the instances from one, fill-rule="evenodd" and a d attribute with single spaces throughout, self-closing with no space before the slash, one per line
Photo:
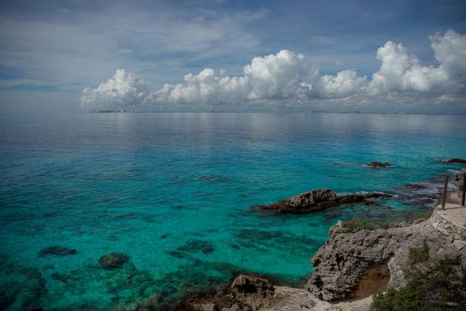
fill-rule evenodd
<path id="1" fill-rule="evenodd" d="M 465 119 L 1 116 L 0 307 L 111 309 L 219 287 L 235 271 L 300 283 L 338 219 L 403 219 L 430 208 L 404 185 L 459 169 L 442 160 L 466 157 Z M 363 166 L 371 161 L 395 166 Z M 309 215 L 249 209 L 320 187 L 395 196 Z M 76 254 L 37 255 L 52 245 Z M 102 269 L 100 256 L 112 251 L 129 263 Z"/>

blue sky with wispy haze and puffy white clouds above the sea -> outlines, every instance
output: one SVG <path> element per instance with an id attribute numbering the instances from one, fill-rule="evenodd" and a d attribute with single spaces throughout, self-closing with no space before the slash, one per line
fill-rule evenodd
<path id="1" fill-rule="evenodd" d="M 466 2 L 3 0 L 0 109 L 466 113 Z"/>

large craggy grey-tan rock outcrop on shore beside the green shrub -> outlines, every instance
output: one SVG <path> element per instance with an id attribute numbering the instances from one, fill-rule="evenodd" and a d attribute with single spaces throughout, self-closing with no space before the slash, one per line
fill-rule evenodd
<path id="1" fill-rule="evenodd" d="M 466 267 L 466 251 L 458 249 L 463 246 L 457 237 L 440 232 L 429 220 L 409 227 L 356 233 L 337 224 L 330 228 L 329 240 L 311 259 L 314 273 L 307 288 L 319 299 L 350 298 L 366 272 L 380 265 L 390 270 L 388 286 L 399 288 L 406 283 L 403 270 L 409 260 L 409 249 L 423 243 L 429 247 L 430 258 L 455 258 L 460 253 L 462 265 Z"/>

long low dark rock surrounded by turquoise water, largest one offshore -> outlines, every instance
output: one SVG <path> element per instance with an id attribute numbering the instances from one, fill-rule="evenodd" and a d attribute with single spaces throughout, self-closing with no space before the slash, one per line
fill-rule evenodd
<path id="1" fill-rule="evenodd" d="M 255 205 L 254 211 L 277 211 L 282 213 L 307 213 L 322 211 L 326 208 L 350 203 L 370 203 L 370 199 L 388 197 L 379 192 L 357 193 L 350 195 L 337 195 L 331 189 L 311 190 L 301 195 L 295 195 L 288 199 L 269 205 Z"/>

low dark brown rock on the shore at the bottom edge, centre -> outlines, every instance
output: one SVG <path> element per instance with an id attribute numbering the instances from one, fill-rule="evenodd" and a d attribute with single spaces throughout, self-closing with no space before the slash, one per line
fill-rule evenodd
<path id="1" fill-rule="evenodd" d="M 274 299 L 273 283 L 264 276 L 240 274 L 215 294 L 212 291 L 197 293 L 181 302 L 181 310 L 259 310 Z"/>

